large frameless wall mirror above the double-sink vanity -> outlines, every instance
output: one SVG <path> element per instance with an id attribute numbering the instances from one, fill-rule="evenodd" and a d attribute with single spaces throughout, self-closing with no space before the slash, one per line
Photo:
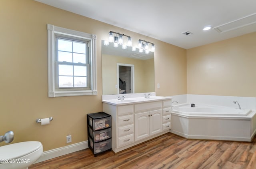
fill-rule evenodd
<path id="1" fill-rule="evenodd" d="M 102 41 L 103 95 L 154 92 L 154 79 L 154 52 L 114 48 L 113 43 L 106 46 Z"/>

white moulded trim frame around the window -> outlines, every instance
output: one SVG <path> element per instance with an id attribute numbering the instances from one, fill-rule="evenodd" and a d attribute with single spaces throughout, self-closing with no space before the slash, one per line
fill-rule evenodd
<path id="1" fill-rule="evenodd" d="M 48 32 L 48 97 L 75 96 L 75 95 L 97 95 L 96 81 L 96 35 L 78 32 L 66 28 L 47 24 Z M 90 40 L 90 71 L 91 90 L 56 91 L 55 90 L 55 35 L 62 34 Z"/>

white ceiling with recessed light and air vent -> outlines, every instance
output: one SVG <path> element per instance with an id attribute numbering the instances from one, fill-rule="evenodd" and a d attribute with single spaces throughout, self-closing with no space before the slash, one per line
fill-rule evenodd
<path id="1" fill-rule="evenodd" d="M 184 49 L 256 31 L 256 0 L 36 1 L 137 32 Z M 244 19 L 240 20 L 241 18 Z M 233 22 L 236 20 L 238 22 Z M 226 31 L 202 30 L 204 26 L 214 28 L 229 22 L 231 23 L 224 25 Z M 186 31 L 191 32 L 192 35 L 182 34 Z"/>

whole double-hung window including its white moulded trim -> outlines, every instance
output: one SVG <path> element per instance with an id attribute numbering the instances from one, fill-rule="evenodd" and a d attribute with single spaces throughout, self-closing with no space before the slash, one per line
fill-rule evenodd
<path id="1" fill-rule="evenodd" d="M 48 97 L 97 95 L 96 35 L 48 24 Z"/>

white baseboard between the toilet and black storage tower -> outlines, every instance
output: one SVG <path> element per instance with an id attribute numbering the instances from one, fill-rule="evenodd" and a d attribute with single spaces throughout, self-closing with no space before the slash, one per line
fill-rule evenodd
<path id="1" fill-rule="evenodd" d="M 60 157 L 62 155 L 66 155 L 66 154 L 73 153 L 75 151 L 80 151 L 87 148 L 88 148 L 88 141 L 82 141 L 80 143 L 75 143 L 72 145 L 67 145 L 64 147 L 44 151 L 41 157 L 35 163 L 39 163 L 55 157 Z"/>

